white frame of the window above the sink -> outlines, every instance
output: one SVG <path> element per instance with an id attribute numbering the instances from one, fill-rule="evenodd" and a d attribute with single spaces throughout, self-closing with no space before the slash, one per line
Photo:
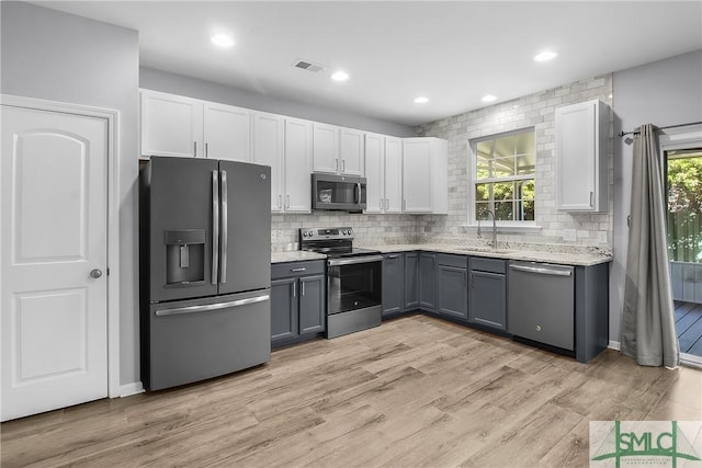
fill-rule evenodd
<path id="1" fill-rule="evenodd" d="M 477 179 L 477 146 L 479 142 L 489 141 L 489 140 L 498 140 L 500 138 L 506 138 L 516 135 L 523 135 L 532 133 L 534 135 L 534 171 L 529 174 L 522 175 L 508 175 L 503 178 L 488 178 L 488 179 Z M 535 126 L 521 127 L 509 132 L 502 132 L 498 134 L 485 135 L 476 138 L 471 138 L 467 141 L 468 148 L 468 167 L 467 167 L 467 176 L 468 176 L 468 190 L 467 190 L 467 228 L 477 228 L 478 220 L 476 219 L 476 186 L 480 183 L 502 183 L 502 182 L 520 182 L 520 181 L 534 181 L 534 186 L 536 186 L 536 128 Z M 513 199 L 516 203 L 517 199 Z M 491 198 L 489 202 L 492 206 L 495 204 L 495 199 Z M 537 196 L 534 193 L 534 219 L 533 220 L 497 220 L 496 225 L 498 231 L 514 231 L 514 232 L 529 232 L 540 230 L 541 227 L 536 225 L 536 207 Z M 492 222 L 488 220 L 480 220 L 482 227 L 484 229 L 491 229 Z"/>

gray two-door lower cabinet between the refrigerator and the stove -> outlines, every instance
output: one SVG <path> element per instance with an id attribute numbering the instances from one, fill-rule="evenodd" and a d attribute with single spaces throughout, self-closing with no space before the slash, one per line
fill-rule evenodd
<path id="1" fill-rule="evenodd" d="M 276 263 L 271 269 L 271 343 L 285 344 L 326 330 L 325 262 Z"/>

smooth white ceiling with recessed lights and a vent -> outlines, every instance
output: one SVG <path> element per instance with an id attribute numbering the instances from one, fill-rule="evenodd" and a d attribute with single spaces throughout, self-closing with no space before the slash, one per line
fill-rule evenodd
<path id="1" fill-rule="evenodd" d="M 702 48 L 700 0 L 33 3 L 137 30 L 143 66 L 407 125 Z"/>

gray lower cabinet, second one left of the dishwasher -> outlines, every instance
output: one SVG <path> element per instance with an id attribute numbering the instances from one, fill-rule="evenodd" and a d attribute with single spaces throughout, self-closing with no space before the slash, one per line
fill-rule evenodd
<path id="1" fill-rule="evenodd" d="M 468 319 L 468 270 L 465 255 L 440 253 L 437 269 L 438 312 Z"/>

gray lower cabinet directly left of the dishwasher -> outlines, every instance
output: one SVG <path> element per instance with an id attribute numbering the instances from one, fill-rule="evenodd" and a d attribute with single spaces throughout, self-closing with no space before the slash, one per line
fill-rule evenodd
<path id="1" fill-rule="evenodd" d="M 468 321 L 483 327 L 507 330 L 507 261 L 468 259 Z"/>

